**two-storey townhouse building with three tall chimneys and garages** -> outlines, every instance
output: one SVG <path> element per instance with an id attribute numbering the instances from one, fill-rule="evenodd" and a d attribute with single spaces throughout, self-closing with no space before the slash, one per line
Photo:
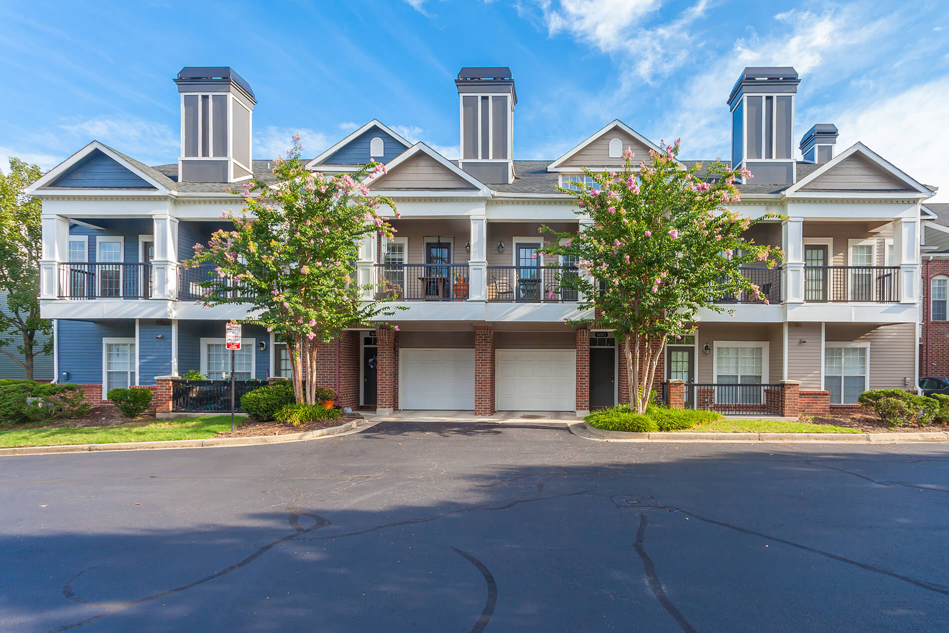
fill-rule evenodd
<path id="1" fill-rule="evenodd" d="M 831 124 L 794 147 L 799 82 L 791 67 L 750 67 L 721 96 L 733 138 L 724 159 L 754 174 L 733 208 L 783 216 L 747 236 L 786 261 L 742 271 L 769 305 L 722 297 L 733 314 L 703 311 L 696 334 L 668 347 L 660 375 L 688 385 L 686 405 L 754 408 L 785 382 L 819 412 L 918 381 L 921 203 L 934 189 L 862 143 L 840 151 Z M 229 67 L 185 67 L 176 84 L 177 163 L 148 166 L 92 141 L 29 189 L 43 199 L 41 300 L 56 320 L 56 373 L 93 399 L 190 369 L 223 378 L 224 324 L 246 314 L 196 305 L 210 270 L 181 262 L 227 228 L 233 182 L 272 179 L 270 160 L 251 156 L 256 97 Z M 582 167 L 621 167 L 627 147 L 648 161 L 656 143 L 617 120 L 559 158 L 515 159 L 511 70 L 462 68 L 456 91 L 458 159 L 373 120 L 307 161 L 324 174 L 387 165 L 369 186 L 398 205 L 396 237 L 365 240 L 356 268 L 373 293 L 407 307 L 389 320 L 398 331 L 368 324 L 321 344 L 320 382 L 343 406 L 380 411 L 583 413 L 628 401 L 611 332 L 565 324 L 582 297 L 557 279 L 576 263 L 541 254 L 553 237 L 541 227 L 581 231 L 585 217 L 558 185 L 582 181 Z M 244 337 L 238 378 L 288 375 L 284 345 L 253 326 Z"/>

